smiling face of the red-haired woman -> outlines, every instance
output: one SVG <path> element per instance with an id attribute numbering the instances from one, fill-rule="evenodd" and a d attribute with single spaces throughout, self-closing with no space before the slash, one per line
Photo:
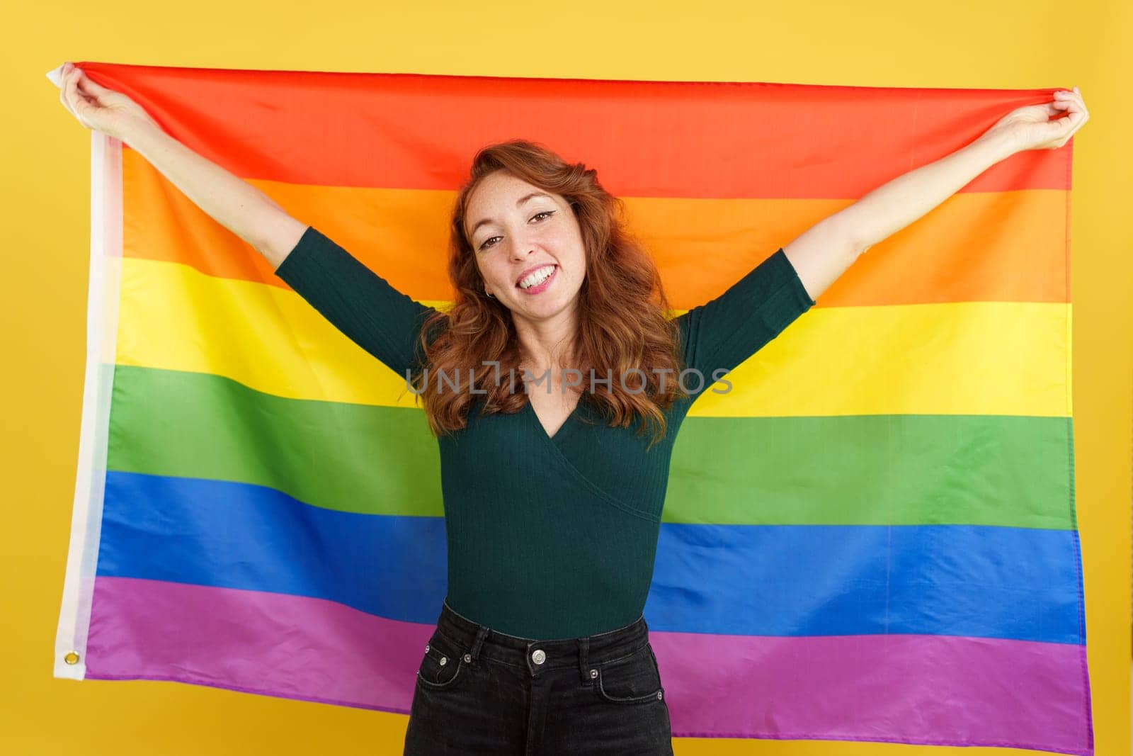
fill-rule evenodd
<path id="1" fill-rule="evenodd" d="M 586 248 L 562 196 L 496 171 L 472 192 L 465 229 L 485 289 L 512 316 L 535 322 L 573 312 Z"/>

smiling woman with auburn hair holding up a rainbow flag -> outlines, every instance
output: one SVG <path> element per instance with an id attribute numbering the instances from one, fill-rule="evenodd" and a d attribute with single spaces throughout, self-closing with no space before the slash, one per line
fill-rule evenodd
<path id="1" fill-rule="evenodd" d="M 84 126 L 128 142 L 423 397 L 441 450 L 449 583 L 407 754 L 672 753 L 641 611 L 689 407 L 872 244 L 1014 152 L 1065 144 L 1088 114 L 1076 87 L 1054 96 L 670 318 L 616 198 L 594 170 L 539 145 L 475 156 L 450 229 L 454 305 L 442 313 L 165 135 L 126 95 L 73 67 L 61 91 Z"/>

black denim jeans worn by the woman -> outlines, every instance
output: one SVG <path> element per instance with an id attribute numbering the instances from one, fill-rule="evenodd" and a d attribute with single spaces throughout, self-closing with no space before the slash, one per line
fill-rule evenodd
<path id="1" fill-rule="evenodd" d="M 496 632 L 445 602 L 425 647 L 406 756 L 672 755 L 645 617 L 587 638 Z"/>

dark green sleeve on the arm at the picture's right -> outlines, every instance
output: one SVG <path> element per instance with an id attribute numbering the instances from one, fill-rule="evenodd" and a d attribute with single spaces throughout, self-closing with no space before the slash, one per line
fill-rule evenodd
<path id="1" fill-rule="evenodd" d="M 712 387 L 714 371 L 734 369 L 813 304 L 781 248 L 724 294 L 680 315 L 684 367 L 704 376 L 692 397 Z M 697 383 L 692 376 L 684 381 L 690 390 Z"/>

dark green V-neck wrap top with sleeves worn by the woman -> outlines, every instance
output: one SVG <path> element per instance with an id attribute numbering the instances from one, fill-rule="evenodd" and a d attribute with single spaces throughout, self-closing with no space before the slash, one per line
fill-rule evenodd
<path id="1" fill-rule="evenodd" d="M 318 230 L 304 232 L 276 275 L 402 380 L 416 368 L 415 341 L 434 308 Z M 698 381 L 687 376 L 692 396 L 670 408 L 665 438 L 648 452 L 649 433 L 636 435 L 637 422 L 600 423 L 585 392 L 554 436 L 530 402 L 512 415 L 485 416 L 483 400 L 474 402 L 468 426 L 438 440 L 449 605 L 500 632 L 538 640 L 596 635 L 640 617 L 673 441 L 689 406 L 712 388 L 716 368 L 734 368 L 813 304 L 780 249 L 680 315 L 682 364 L 700 371 L 706 385 L 696 390 Z M 522 391 L 518 374 L 516 387 Z"/>

